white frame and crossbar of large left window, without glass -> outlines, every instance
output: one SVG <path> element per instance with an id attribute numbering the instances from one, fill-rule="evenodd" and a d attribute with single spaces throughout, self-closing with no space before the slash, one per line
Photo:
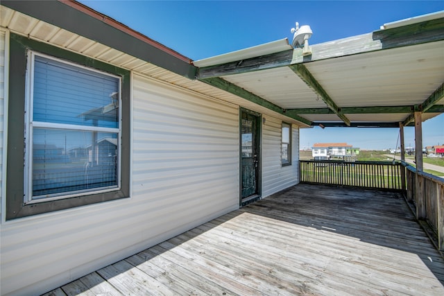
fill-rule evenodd
<path id="1" fill-rule="evenodd" d="M 34 61 L 35 56 L 47 58 L 49 60 L 55 60 L 68 64 L 72 67 L 85 69 L 96 73 L 101 73 L 105 76 L 117 78 L 119 80 L 119 127 L 118 128 L 103 128 L 85 125 L 74 125 L 66 123 L 49 123 L 42 121 L 33 121 L 33 89 L 34 89 Z M 28 59 L 26 63 L 26 97 L 25 97 L 25 159 L 24 159 L 24 203 L 32 204 L 38 202 L 47 202 L 51 200 L 61 200 L 65 198 L 74 198 L 82 195 L 90 195 L 96 193 L 105 193 L 110 191 L 118 191 L 121 189 L 121 124 L 122 124 L 122 81 L 120 76 L 115 76 L 105 71 L 84 67 L 74 62 L 68 62 L 67 60 L 61 60 L 54 58 L 51 55 L 38 53 L 36 51 L 28 51 Z M 48 198 L 42 198 L 41 196 L 33 196 L 33 128 L 47 128 L 57 130 L 73 130 L 73 131 L 85 131 L 85 132 L 112 132 L 117 134 L 117 185 L 100 187 L 99 189 L 83 189 L 78 191 L 67 191 L 65 193 L 56 193 Z"/>

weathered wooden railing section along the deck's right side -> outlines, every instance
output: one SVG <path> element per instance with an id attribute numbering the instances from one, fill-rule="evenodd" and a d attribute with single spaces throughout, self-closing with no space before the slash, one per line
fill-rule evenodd
<path id="1" fill-rule="evenodd" d="M 444 179 L 418 172 L 404 164 L 407 182 L 407 202 L 413 205 L 418 220 L 425 220 L 432 228 L 439 250 L 444 251 Z"/>

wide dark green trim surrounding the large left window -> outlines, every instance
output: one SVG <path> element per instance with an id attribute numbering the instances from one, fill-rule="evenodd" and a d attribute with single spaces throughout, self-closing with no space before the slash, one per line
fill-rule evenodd
<path id="1" fill-rule="evenodd" d="M 121 76 L 121 189 L 106 193 L 85 194 L 46 202 L 24 204 L 24 131 L 26 53 L 38 51 L 55 58 L 75 62 Z M 6 220 L 43 214 L 60 209 L 80 207 L 130 196 L 130 72 L 83 55 L 65 51 L 46 43 L 29 40 L 10 33 L 9 104 L 8 104 L 8 163 L 6 165 Z M 17 165 L 22 164 L 22 165 Z"/>

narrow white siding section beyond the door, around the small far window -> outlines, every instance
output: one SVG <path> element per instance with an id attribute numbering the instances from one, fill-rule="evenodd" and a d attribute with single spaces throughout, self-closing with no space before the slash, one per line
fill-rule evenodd
<path id="1" fill-rule="evenodd" d="M 281 129 L 282 121 L 269 116 L 262 125 L 262 198 L 298 184 L 299 129 L 291 126 L 291 166 L 282 166 Z"/>

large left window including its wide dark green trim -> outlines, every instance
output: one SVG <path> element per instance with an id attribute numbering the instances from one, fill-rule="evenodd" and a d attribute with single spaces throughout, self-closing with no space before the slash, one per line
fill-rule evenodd
<path id="1" fill-rule="evenodd" d="M 129 197 L 129 71 L 10 36 L 6 219 Z"/>

